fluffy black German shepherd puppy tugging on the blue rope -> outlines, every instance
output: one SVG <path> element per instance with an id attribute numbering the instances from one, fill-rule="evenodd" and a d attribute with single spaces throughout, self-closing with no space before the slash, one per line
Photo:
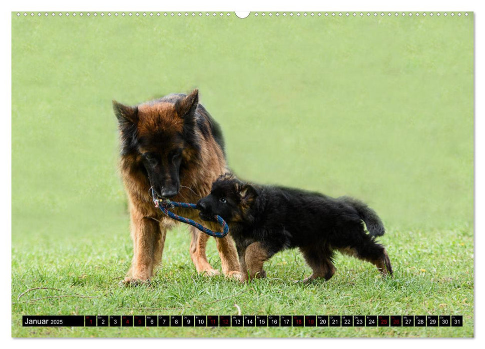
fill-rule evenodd
<path id="1" fill-rule="evenodd" d="M 313 269 L 304 282 L 333 276 L 334 250 L 375 264 L 384 276 L 393 273 L 384 246 L 375 242 L 376 236 L 384 234 L 381 219 L 351 197 L 244 183 L 225 174 L 199 200 L 197 209 L 203 220 L 213 221 L 217 214 L 229 224 L 243 282 L 265 277 L 263 263 L 276 252 L 294 247 Z"/>

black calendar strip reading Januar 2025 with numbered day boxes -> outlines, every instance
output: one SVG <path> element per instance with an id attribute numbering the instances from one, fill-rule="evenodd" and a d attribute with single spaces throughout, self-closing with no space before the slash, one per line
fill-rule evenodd
<path id="1" fill-rule="evenodd" d="M 23 315 L 22 327 L 463 327 L 463 316 Z"/>

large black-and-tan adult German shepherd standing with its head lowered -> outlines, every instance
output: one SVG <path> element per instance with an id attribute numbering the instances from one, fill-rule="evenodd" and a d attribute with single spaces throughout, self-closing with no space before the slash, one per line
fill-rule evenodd
<path id="1" fill-rule="evenodd" d="M 155 208 L 150 188 L 159 197 L 195 203 L 210 192 L 217 177 L 228 171 L 221 129 L 198 100 L 198 90 L 194 90 L 189 95 L 171 94 L 137 106 L 113 101 L 133 240 L 133 259 L 125 284 L 146 282 L 154 275 L 154 268 L 161 262 L 167 228 L 175 223 Z M 173 211 L 202 223 L 196 210 Z M 205 225 L 220 229 L 217 223 Z M 209 236 L 192 226 L 190 229 L 190 256 L 195 269 L 207 275 L 218 274 L 206 258 Z M 232 240 L 217 238 L 216 244 L 224 275 L 238 276 Z"/>

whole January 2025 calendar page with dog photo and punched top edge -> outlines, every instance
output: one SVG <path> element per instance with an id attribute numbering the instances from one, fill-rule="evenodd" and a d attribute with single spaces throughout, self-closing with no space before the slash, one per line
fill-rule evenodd
<path id="1" fill-rule="evenodd" d="M 474 337 L 473 11 L 13 11 L 11 166 L 12 337 Z"/>

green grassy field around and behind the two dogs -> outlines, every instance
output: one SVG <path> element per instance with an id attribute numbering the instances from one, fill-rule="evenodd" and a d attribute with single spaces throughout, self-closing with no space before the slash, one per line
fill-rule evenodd
<path id="1" fill-rule="evenodd" d="M 111 100 L 194 87 L 239 176 L 376 209 L 395 277 L 339 255 L 330 281 L 294 283 L 311 272 L 297 251 L 249 285 L 201 277 L 179 226 L 150 285 L 118 286 L 132 247 Z M 473 15 L 13 13 L 12 336 L 473 337 L 473 126 Z M 208 258 L 220 269 L 213 240 Z M 49 289 L 22 295 L 39 287 Z M 235 304 L 243 315 L 463 315 L 464 326 L 20 325 L 21 315 L 235 315 Z"/>

